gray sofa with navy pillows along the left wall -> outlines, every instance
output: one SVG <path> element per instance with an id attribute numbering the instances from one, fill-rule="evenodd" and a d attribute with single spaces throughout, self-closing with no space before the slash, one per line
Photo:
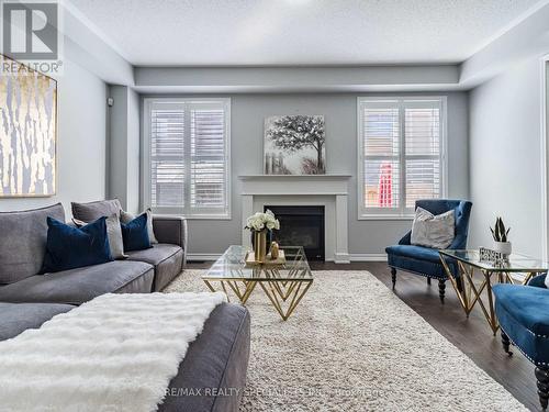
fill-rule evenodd
<path id="1" fill-rule="evenodd" d="M 89 221 L 109 215 L 115 201 L 88 203 L 94 210 Z M 120 203 L 117 203 L 120 210 Z M 65 221 L 60 203 L 52 207 L 0 213 L 0 302 L 81 304 L 100 294 L 148 293 L 168 285 L 184 266 L 186 221 L 154 218 L 158 244 L 114 260 L 55 274 L 37 275 L 44 260 L 46 216 Z M 160 222 L 160 224 L 157 224 Z M 169 242 L 165 243 L 165 238 Z"/>

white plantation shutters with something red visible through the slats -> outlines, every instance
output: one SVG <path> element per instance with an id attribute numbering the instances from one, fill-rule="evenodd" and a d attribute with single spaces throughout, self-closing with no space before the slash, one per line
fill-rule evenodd
<path id="1" fill-rule="evenodd" d="M 444 98 L 359 98 L 359 213 L 404 215 L 444 192 Z"/>

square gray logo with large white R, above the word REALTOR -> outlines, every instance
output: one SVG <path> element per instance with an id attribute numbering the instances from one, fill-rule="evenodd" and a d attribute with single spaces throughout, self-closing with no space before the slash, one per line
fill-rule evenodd
<path id="1" fill-rule="evenodd" d="M 57 1 L 2 1 L 2 52 L 18 60 L 59 58 Z"/>

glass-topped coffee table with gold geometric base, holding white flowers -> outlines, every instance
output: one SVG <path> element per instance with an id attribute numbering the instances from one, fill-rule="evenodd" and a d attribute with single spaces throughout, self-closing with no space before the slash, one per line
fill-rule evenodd
<path id="1" fill-rule="evenodd" d="M 227 299 L 231 290 L 242 304 L 246 304 L 259 285 L 285 321 L 313 285 L 313 274 L 302 246 L 280 246 L 280 250 L 285 256 L 283 264 L 250 264 L 246 261 L 249 248 L 229 246 L 202 276 L 202 280 L 213 292 L 219 285 Z"/>

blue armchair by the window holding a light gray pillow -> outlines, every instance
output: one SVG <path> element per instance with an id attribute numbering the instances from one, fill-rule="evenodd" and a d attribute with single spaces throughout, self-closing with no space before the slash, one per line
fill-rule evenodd
<path id="1" fill-rule="evenodd" d="M 453 209 L 456 211 L 456 237 L 448 248 L 464 249 L 467 247 L 469 218 L 472 208 L 471 202 L 448 199 L 418 200 L 415 207 L 416 209 L 419 207 L 428 210 L 435 215 Z M 438 280 L 438 294 L 440 301 L 444 303 L 446 280 L 448 280 L 448 277 L 440 261 L 438 249 L 411 245 L 411 235 L 412 232 L 406 233 L 397 245 L 385 248 L 388 263 L 391 268 L 393 289 L 396 285 L 396 270 L 424 276 L 427 278 L 429 285 L 430 279 L 434 278 Z M 450 269 L 457 274 L 452 264 L 450 264 Z"/>

